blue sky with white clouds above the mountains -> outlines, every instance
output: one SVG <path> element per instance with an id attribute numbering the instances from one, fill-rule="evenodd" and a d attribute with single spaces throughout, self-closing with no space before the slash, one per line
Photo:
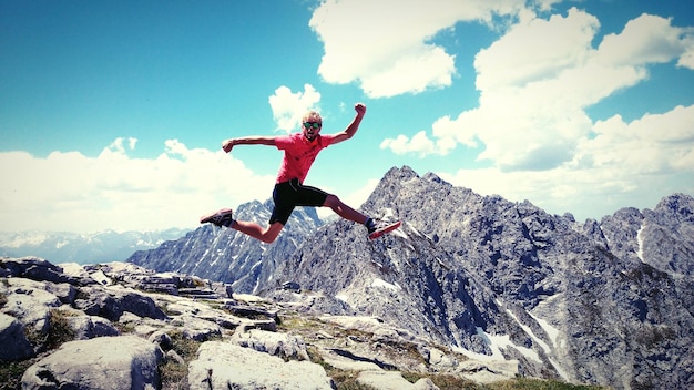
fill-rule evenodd
<path id="1" fill-rule="evenodd" d="M 0 0 L 0 229 L 195 227 L 271 196 L 280 153 L 359 206 L 392 166 L 600 219 L 694 194 L 694 4 L 665 0 Z"/>

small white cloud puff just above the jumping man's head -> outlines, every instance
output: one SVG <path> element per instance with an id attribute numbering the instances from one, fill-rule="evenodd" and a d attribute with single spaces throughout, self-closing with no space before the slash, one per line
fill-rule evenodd
<path id="1" fill-rule="evenodd" d="M 304 85 L 304 92 L 293 93 L 287 86 L 279 86 L 275 94 L 269 96 L 269 106 L 273 117 L 277 122 L 277 130 L 289 133 L 295 131 L 302 122 L 302 116 L 315 109 L 320 101 L 320 93 L 310 84 Z"/>

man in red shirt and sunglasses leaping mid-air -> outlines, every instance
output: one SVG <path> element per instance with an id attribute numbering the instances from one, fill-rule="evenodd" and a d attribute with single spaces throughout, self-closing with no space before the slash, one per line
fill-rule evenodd
<path id="1" fill-rule="evenodd" d="M 302 120 L 303 131 L 282 136 L 246 136 L 229 138 L 222 142 L 224 152 L 229 153 L 236 145 L 267 145 L 284 151 L 284 158 L 277 173 L 273 201 L 275 207 L 269 225 L 262 227 L 253 222 L 236 220 L 231 208 L 222 208 L 200 218 L 201 224 L 212 223 L 242 232 L 264 243 L 273 243 L 284 228 L 296 206 L 330 207 L 340 217 L 364 224 L 370 239 L 380 237 L 400 226 L 400 222 L 385 224 L 357 212 L 344 204 L 337 196 L 316 187 L 305 186 L 304 179 L 316 160 L 318 152 L 343 141 L 351 138 L 366 114 L 366 105 L 355 104 L 355 119 L 344 131 L 336 134 L 322 135 L 323 120 L 315 111 L 306 113 Z"/>

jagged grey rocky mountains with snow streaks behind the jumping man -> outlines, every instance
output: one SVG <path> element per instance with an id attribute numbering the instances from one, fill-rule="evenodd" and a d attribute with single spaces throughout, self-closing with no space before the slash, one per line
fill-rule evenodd
<path id="1" fill-rule="evenodd" d="M 401 167 L 361 209 L 402 227 L 370 242 L 363 226 L 298 215 L 267 246 L 206 226 L 130 260 L 159 271 L 204 269 L 238 292 L 298 299 L 312 312 L 377 319 L 459 353 L 443 358 L 453 372 L 470 359 L 498 365 L 478 372 L 694 387 L 691 196 L 579 223 Z"/>

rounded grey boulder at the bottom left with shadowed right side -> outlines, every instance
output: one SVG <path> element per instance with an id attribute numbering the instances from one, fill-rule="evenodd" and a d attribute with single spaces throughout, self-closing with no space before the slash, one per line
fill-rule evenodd
<path id="1" fill-rule="evenodd" d="M 134 336 L 69 341 L 29 367 L 22 389 L 153 389 L 162 350 Z"/>

